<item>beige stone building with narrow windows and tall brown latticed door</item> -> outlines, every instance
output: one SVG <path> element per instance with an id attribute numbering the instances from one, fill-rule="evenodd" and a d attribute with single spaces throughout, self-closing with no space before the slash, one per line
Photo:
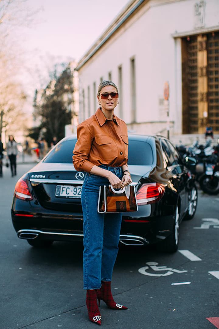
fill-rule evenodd
<path id="1" fill-rule="evenodd" d="M 80 59 L 79 121 L 98 108 L 101 80 L 119 87 L 115 113 L 129 131 L 219 134 L 219 1 L 132 0 Z"/>

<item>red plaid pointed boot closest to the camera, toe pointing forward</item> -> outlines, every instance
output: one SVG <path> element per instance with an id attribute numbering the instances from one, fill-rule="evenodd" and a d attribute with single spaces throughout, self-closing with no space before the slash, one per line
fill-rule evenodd
<path id="1" fill-rule="evenodd" d="M 87 290 L 86 305 L 89 320 L 101 325 L 101 315 L 97 305 L 97 293 L 95 290 Z"/>

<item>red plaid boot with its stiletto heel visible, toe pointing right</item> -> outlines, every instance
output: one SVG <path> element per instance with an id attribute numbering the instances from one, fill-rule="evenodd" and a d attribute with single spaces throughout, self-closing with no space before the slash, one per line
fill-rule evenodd
<path id="1" fill-rule="evenodd" d="M 100 304 L 100 299 L 102 299 L 110 309 L 127 310 L 127 307 L 122 306 L 114 301 L 111 292 L 111 282 L 101 281 L 101 283 L 102 283 L 101 288 L 97 289 L 97 299 L 99 301 L 99 304 Z"/>

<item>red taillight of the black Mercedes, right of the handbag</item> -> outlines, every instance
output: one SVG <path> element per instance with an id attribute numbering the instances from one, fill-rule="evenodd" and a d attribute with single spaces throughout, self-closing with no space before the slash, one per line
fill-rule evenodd
<path id="1" fill-rule="evenodd" d="M 158 183 L 142 184 L 136 193 L 139 206 L 158 202 L 164 195 L 164 185 Z"/>

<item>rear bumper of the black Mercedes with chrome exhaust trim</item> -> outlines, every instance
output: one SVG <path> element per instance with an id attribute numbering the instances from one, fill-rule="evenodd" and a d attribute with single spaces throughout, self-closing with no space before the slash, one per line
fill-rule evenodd
<path id="1" fill-rule="evenodd" d="M 174 226 L 173 215 L 157 216 L 155 211 L 151 212 L 150 205 L 139 208 L 137 213 L 123 214 L 120 231 L 122 244 L 147 245 L 164 240 L 171 234 Z M 47 212 L 42 214 L 26 210 L 27 217 L 22 216 L 22 213 L 24 214 L 25 211 L 11 211 L 12 223 L 20 239 L 83 241 L 83 216 L 81 213 L 58 214 L 56 212 L 54 214 Z M 30 215 L 32 217 L 29 217 Z"/>

